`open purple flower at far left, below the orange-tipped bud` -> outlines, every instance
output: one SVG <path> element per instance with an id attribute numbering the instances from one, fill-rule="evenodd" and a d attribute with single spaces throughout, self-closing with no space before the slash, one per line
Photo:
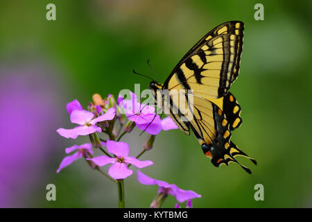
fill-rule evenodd
<path id="1" fill-rule="evenodd" d="M 76 139 L 78 135 L 89 135 L 95 132 L 102 132 L 102 129 L 96 126 L 96 123 L 106 120 L 111 120 L 115 116 L 115 108 L 110 108 L 105 114 L 100 117 L 94 118 L 92 112 L 86 110 L 72 110 L 71 122 L 77 123 L 80 126 L 76 126 L 73 129 L 59 128 L 56 130 L 62 137 Z"/>

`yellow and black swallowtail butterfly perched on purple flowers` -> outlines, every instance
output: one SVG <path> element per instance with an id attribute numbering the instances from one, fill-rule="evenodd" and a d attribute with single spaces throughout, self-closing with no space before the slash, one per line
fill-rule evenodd
<path id="1" fill-rule="evenodd" d="M 212 29 L 180 60 L 164 84 L 153 80 L 150 89 L 155 100 L 160 96 L 162 103 L 166 103 L 168 115 L 180 130 L 187 135 L 193 131 L 214 166 L 235 162 L 251 173 L 235 157 L 247 157 L 254 164 L 257 164 L 256 160 L 231 140 L 231 131 L 242 123 L 241 106 L 229 88 L 239 75 L 243 29 L 244 24 L 239 21 L 225 22 Z M 162 94 L 164 90 L 175 90 L 187 105 L 179 107 L 171 94 Z M 189 101 L 192 101 L 192 107 Z"/>

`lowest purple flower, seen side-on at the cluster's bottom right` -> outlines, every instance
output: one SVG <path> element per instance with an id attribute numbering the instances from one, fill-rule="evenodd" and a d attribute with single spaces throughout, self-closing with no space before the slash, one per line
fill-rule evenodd
<path id="1" fill-rule="evenodd" d="M 175 196 L 177 201 L 180 203 L 184 202 L 185 200 L 202 197 L 200 194 L 196 194 L 196 192 L 194 191 L 180 189 L 179 187 L 177 187 L 177 185 L 169 185 L 168 182 L 150 178 L 141 171 L 137 171 L 137 180 L 142 185 L 158 185 L 159 186 L 158 193 L 166 189 L 166 191 L 168 191 L 168 194 Z"/>

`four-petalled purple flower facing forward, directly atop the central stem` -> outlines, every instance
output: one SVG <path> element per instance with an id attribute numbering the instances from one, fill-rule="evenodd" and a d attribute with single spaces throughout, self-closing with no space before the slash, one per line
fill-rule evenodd
<path id="1" fill-rule="evenodd" d="M 112 140 L 107 140 L 106 143 L 107 151 L 113 153 L 116 157 L 107 157 L 107 155 L 101 155 L 94 157 L 92 160 L 96 165 L 102 167 L 106 164 L 112 164 L 108 170 L 108 174 L 115 180 L 124 179 L 130 176 L 133 172 L 128 169 L 128 164 L 135 165 L 135 167 L 143 168 L 153 165 L 154 163 L 150 160 L 137 160 L 135 157 L 129 157 L 129 146 L 125 142 L 114 142 Z"/>

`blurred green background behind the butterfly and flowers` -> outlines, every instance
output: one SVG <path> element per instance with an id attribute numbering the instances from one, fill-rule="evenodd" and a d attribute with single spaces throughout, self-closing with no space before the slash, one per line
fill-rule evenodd
<path id="1" fill-rule="evenodd" d="M 56 21 L 46 20 L 48 3 L 55 3 Z M 263 3 L 264 21 L 254 19 L 256 3 Z M 65 147 L 87 142 L 55 132 L 72 126 L 66 104 L 78 99 L 87 108 L 94 93 L 117 96 L 121 89 L 134 90 L 135 83 L 147 88 L 147 78 L 132 74 L 136 69 L 153 76 L 147 59 L 164 82 L 193 44 L 230 20 L 245 23 L 240 74 L 231 89 L 241 104 L 243 124 L 232 139 L 258 166 L 239 158 L 252 169 L 251 176 L 236 164 L 216 168 L 193 135 L 171 130 L 157 136 L 142 158 L 155 165 L 142 171 L 201 194 L 194 207 L 312 207 L 311 10 L 311 1 L 1 1 L 1 77 L 27 76 L 8 74 L 8 69 L 37 70 L 37 76 L 26 79 L 52 88 L 42 101 L 55 110 L 47 119 L 57 123 L 43 124 L 49 137 L 35 145 L 35 153 L 49 152 L 40 164 L 30 160 L 37 164 L 33 171 L 6 169 L 25 180 L 0 194 L 10 199 L 2 207 L 117 207 L 116 185 L 83 160 L 55 173 Z M 40 109 L 42 101 L 33 108 Z M 11 102 L 18 107 L 19 101 Z M 131 155 L 146 139 L 139 133 L 123 139 Z M 1 146 L 1 153 L 8 148 Z M 46 200 L 49 183 L 56 185 L 56 201 Z M 264 186 L 264 201 L 254 200 L 258 183 Z M 156 193 L 157 187 L 139 184 L 136 173 L 125 180 L 126 207 L 149 207 Z M 175 203 L 169 196 L 164 207 Z"/>

